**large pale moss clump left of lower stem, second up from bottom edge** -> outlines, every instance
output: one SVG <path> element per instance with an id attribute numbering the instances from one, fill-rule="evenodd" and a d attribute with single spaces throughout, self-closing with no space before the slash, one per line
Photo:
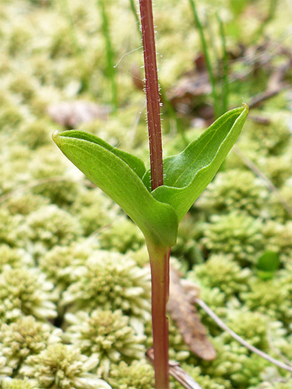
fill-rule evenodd
<path id="1" fill-rule="evenodd" d="M 100 361 L 98 373 L 107 375 L 112 363 L 121 359 L 131 361 L 144 355 L 144 336 L 136 335 L 129 318 L 122 311 L 96 309 L 90 314 L 78 312 L 66 315 L 71 324 L 66 339 L 77 346 L 84 355 L 96 355 Z"/>

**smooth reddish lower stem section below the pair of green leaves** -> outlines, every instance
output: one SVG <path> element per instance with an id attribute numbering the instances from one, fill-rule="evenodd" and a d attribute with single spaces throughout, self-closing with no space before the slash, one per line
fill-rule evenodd
<path id="1" fill-rule="evenodd" d="M 152 283 L 152 325 L 155 389 L 169 388 L 168 367 L 168 318 L 166 303 L 169 296 L 169 247 L 147 245 L 150 256 Z"/>

